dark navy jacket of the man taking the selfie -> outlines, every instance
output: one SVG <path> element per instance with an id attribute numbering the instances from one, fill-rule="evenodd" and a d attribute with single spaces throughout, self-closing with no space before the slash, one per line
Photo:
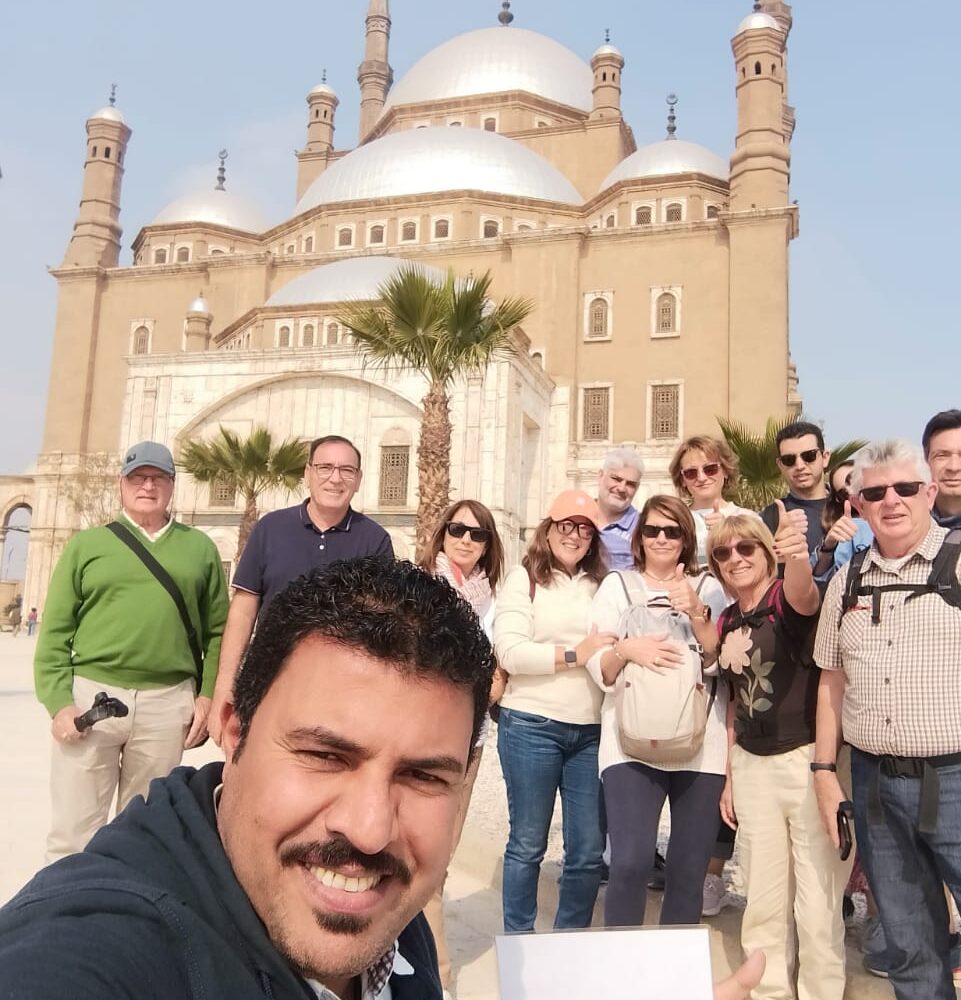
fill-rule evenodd
<path id="1" fill-rule="evenodd" d="M 276 951 L 217 834 L 222 764 L 154 781 L 81 854 L 0 910 L 2 1000 L 314 1000 Z M 422 914 L 400 936 L 414 974 L 393 1000 L 439 1000 Z"/>

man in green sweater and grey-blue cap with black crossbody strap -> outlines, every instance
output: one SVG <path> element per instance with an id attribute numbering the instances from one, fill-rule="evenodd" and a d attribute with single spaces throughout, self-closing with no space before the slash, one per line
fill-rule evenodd
<path id="1" fill-rule="evenodd" d="M 53 720 L 49 861 L 83 850 L 114 793 L 120 812 L 207 736 L 227 587 L 211 539 L 169 514 L 174 475 L 164 445 L 129 448 L 118 523 L 176 584 L 202 669 L 174 599 L 140 557 L 108 527 L 74 535 L 50 580 L 34 659 L 37 698 Z M 74 720 L 98 691 L 129 713 L 81 733 Z"/>

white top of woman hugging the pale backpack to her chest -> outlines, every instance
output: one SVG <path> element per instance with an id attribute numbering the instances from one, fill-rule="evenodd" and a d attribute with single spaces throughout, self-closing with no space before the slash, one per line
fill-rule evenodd
<path id="1" fill-rule="evenodd" d="M 629 590 L 639 590 L 646 595 L 646 600 L 663 597 L 664 590 L 652 590 L 644 582 L 644 577 L 637 570 L 620 571 L 624 575 Z M 695 579 L 692 586 L 697 587 Z M 714 620 L 730 603 L 724 595 L 721 585 L 713 576 L 705 576 L 700 592 L 701 600 L 707 604 Z M 628 600 L 621 581 L 611 573 L 607 576 L 597 591 L 594 606 L 591 609 L 591 624 L 596 625 L 600 632 L 617 632 L 621 615 L 628 607 Z M 587 672 L 604 692 L 604 703 L 601 707 L 601 746 L 598 751 L 598 770 L 601 774 L 605 768 L 614 764 L 636 763 L 635 758 L 628 757 L 621 750 L 621 741 L 617 732 L 617 718 L 614 711 L 614 687 L 604 683 L 601 676 L 601 657 L 604 651 L 595 653 L 587 662 Z M 705 671 L 708 675 L 717 675 L 717 663 Z M 710 682 L 713 686 L 713 681 Z M 658 771 L 697 771 L 702 774 L 727 773 L 727 701 L 728 686 L 723 678 L 717 681 L 717 695 L 714 705 L 707 718 L 707 729 L 704 732 L 704 743 L 697 756 L 680 764 L 648 764 Z M 646 761 L 644 763 L 647 763 Z"/>

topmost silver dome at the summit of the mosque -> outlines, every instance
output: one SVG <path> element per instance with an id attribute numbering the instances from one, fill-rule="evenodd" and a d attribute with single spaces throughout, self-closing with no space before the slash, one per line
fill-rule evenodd
<path id="1" fill-rule="evenodd" d="M 414 63 L 391 88 L 384 110 L 523 90 L 590 111 L 593 84 L 587 63 L 553 38 L 524 28 L 481 28 L 438 45 Z"/>

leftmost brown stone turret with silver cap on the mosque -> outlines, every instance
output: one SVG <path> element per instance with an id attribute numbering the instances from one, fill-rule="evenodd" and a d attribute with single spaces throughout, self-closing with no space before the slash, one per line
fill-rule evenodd
<path id="1" fill-rule="evenodd" d="M 87 119 L 87 155 L 80 210 L 63 259 L 64 267 L 116 267 L 120 260 L 120 186 L 131 131 L 110 103 Z"/>

